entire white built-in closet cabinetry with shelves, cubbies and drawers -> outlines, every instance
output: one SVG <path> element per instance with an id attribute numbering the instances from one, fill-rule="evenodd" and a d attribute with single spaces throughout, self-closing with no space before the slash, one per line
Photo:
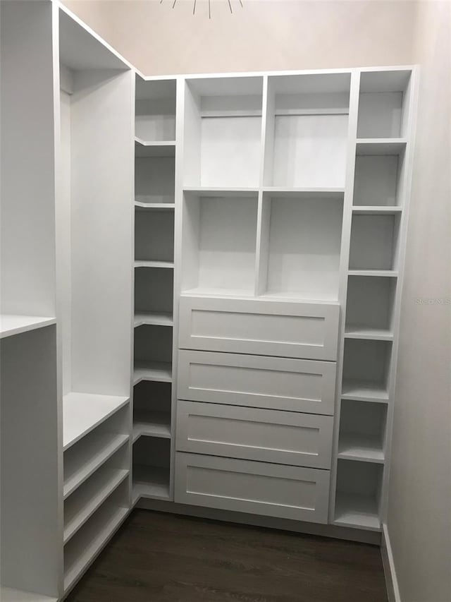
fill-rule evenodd
<path id="1" fill-rule="evenodd" d="M 135 505 L 377 535 L 415 68 L 146 78 L 4 1 L 1 88 L 2 600 Z"/>

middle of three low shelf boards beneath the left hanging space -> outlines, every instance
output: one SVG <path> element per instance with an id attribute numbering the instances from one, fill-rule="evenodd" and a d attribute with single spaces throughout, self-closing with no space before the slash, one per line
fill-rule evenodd
<path id="1" fill-rule="evenodd" d="M 80 490 L 76 500 L 72 497 L 64 505 L 64 536 L 66 545 L 70 538 L 92 517 L 92 514 L 109 498 L 116 488 L 127 478 L 130 471 L 125 469 L 108 469 L 94 474 L 92 479 Z"/>

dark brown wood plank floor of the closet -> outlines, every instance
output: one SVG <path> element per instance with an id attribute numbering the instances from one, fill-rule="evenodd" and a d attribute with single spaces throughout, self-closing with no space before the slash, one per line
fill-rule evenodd
<path id="1" fill-rule="evenodd" d="M 67 602 L 386 602 L 376 546 L 135 510 Z"/>

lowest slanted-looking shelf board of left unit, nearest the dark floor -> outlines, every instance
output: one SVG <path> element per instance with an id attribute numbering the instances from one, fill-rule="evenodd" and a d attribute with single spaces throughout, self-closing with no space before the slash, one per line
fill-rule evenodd
<path id="1" fill-rule="evenodd" d="M 64 591 L 73 586 L 128 514 L 127 508 L 108 506 L 108 502 L 106 504 L 64 550 Z"/>

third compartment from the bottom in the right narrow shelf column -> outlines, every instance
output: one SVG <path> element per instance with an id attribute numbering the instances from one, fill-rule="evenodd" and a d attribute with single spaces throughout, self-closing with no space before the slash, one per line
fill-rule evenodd
<path id="1" fill-rule="evenodd" d="M 388 400 L 390 341 L 346 339 L 342 395 L 351 399 Z"/>

